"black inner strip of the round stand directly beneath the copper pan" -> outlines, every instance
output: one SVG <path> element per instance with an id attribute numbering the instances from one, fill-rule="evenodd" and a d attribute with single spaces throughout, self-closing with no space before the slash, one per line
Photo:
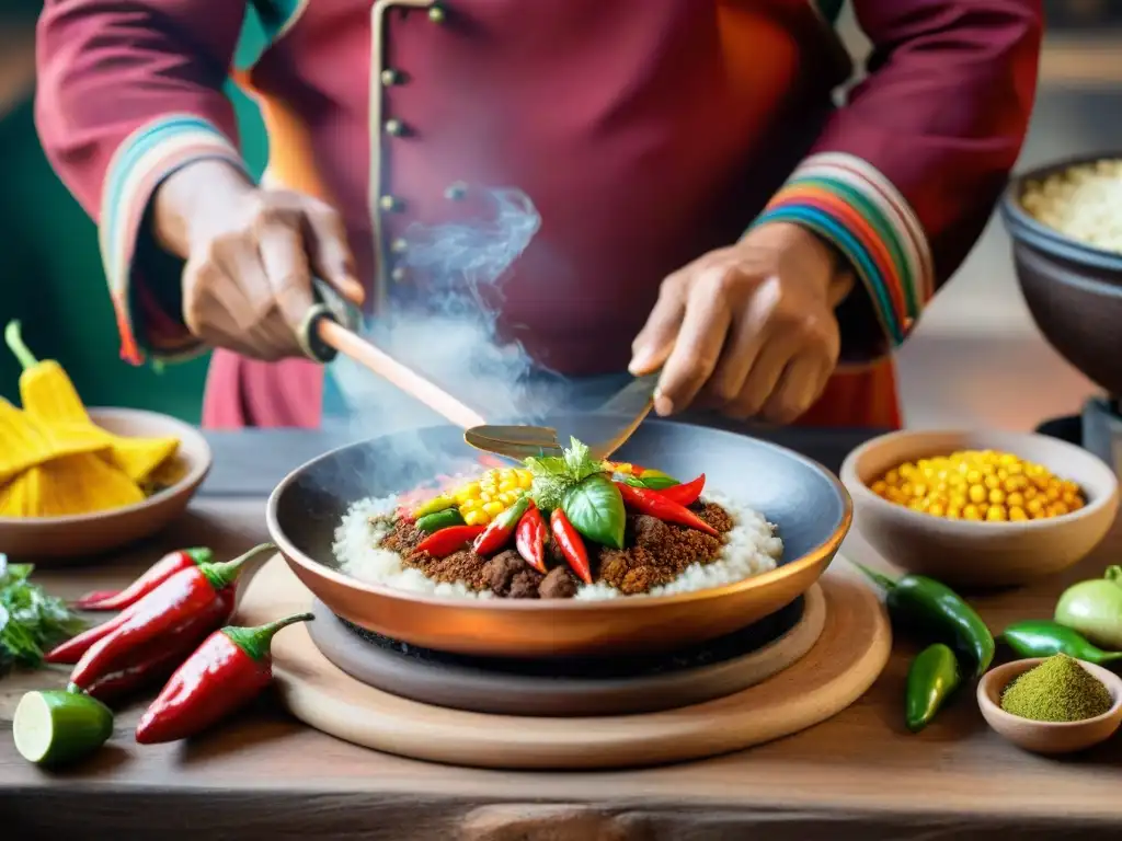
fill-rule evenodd
<path id="1" fill-rule="evenodd" d="M 558 680 L 618 681 L 628 677 L 650 677 L 683 669 L 710 666 L 723 660 L 742 657 L 763 648 L 791 630 L 802 618 L 806 602 L 799 597 L 780 611 L 755 625 L 709 643 L 660 655 L 627 657 L 564 657 L 551 659 L 518 659 L 506 657 L 469 657 L 434 651 L 430 648 L 399 643 L 396 639 L 359 628 L 340 617 L 340 622 L 352 634 L 388 651 L 404 655 L 427 666 L 447 666 L 472 669 L 494 675 L 544 677 Z"/>

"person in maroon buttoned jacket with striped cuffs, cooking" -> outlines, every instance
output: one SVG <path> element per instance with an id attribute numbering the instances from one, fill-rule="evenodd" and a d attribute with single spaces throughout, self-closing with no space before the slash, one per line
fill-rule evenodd
<path id="1" fill-rule="evenodd" d="M 898 426 L 891 353 L 1027 129 L 1040 0 L 46 0 L 37 123 L 94 216 L 122 357 L 215 349 L 204 424 L 316 426 L 319 275 L 423 308 L 416 224 L 516 187 L 505 340 L 656 408 Z M 254 44 L 257 47 L 254 48 Z M 261 46 L 264 45 L 264 46 Z M 223 85 L 260 104 L 255 183 Z"/>

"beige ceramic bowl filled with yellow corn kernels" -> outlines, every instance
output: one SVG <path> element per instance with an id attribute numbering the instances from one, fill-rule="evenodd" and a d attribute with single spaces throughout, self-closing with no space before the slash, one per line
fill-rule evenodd
<path id="1" fill-rule="evenodd" d="M 950 585 L 1023 584 L 1067 569 L 1103 539 L 1118 479 L 1058 438 L 904 431 L 842 465 L 854 527 L 885 560 Z"/>

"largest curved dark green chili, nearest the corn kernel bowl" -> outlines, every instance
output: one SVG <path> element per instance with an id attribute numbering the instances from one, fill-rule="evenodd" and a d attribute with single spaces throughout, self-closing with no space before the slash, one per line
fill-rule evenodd
<path id="1" fill-rule="evenodd" d="M 925 575 L 888 575 L 854 564 L 885 591 L 892 621 L 921 637 L 946 643 L 968 662 L 974 677 L 981 677 L 993 662 L 996 645 L 990 628 L 974 608 L 945 584 Z"/>

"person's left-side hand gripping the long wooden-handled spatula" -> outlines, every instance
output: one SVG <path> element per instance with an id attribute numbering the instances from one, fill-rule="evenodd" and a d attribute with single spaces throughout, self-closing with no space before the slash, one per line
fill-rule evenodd
<path id="1" fill-rule="evenodd" d="M 186 260 L 183 317 L 210 345 L 268 361 L 302 355 L 296 336 L 313 305 L 313 274 L 362 303 L 339 214 L 258 187 L 227 163 L 201 160 L 169 176 L 156 192 L 154 229 Z"/>

